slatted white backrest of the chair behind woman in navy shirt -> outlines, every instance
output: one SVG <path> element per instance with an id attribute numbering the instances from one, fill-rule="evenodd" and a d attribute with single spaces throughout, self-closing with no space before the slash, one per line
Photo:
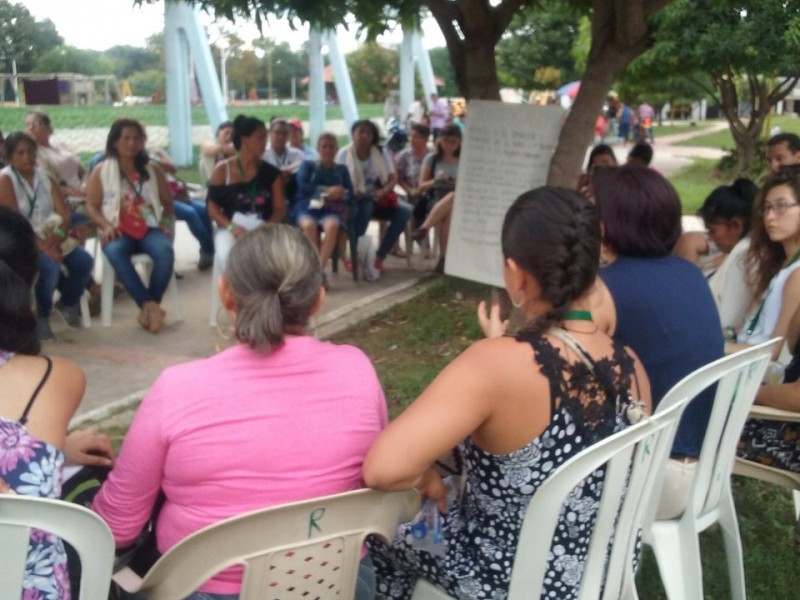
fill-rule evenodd
<path id="1" fill-rule="evenodd" d="M 694 398 L 717 383 L 714 407 L 695 469 L 689 503 L 684 514 L 700 517 L 716 510 L 730 485 L 736 444 L 753 404 L 773 350 L 783 342 L 775 338 L 725 356 L 678 382 L 661 400 L 656 413 L 687 396 Z M 702 377 L 700 375 L 702 374 Z M 698 389 L 698 384 L 703 387 Z"/>

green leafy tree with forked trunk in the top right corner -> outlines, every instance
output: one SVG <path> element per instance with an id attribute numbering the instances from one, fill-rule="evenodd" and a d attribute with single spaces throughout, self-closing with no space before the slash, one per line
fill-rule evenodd
<path id="1" fill-rule="evenodd" d="M 718 104 L 747 174 L 768 115 L 800 79 L 800 1 L 676 0 L 653 39 L 631 70 L 651 80 L 679 73 Z"/>

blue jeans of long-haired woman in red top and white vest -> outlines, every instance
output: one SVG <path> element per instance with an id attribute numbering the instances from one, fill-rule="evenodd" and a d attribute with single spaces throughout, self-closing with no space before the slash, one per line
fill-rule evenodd
<path id="1" fill-rule="evenodd" d="M 141 306 L 151 300 L 161 303 L 175 265 L 172 240 L 163 231 L 151 227 L 141 240 L 120 235 L 103 246 L 103 253 L 137 305 Z M 153 260 L 148 287 L 145 287 L 131 262 L 134 254 L 141 253 L 147 254 Z"/>

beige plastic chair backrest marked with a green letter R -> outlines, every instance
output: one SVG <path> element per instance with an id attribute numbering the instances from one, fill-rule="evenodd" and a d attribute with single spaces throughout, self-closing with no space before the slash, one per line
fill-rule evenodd
<path id="1" fill-rule="evenodd" d="M 171 548 L 142 581 L 151 600 L 185 598 L 243 565 L 240 600 L 352 598 L 364 538 L 391 540 L 419 510 L 416 490 L 356 490 L 232 517 Z"/>

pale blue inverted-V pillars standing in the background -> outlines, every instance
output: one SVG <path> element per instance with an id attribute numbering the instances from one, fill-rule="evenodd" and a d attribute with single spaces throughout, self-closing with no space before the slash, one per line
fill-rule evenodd
<path id="1" fill-rule="evenodd" d="M 228 111 L 211 56 L 211 47 L 199 19 L 199 9 L 181 2 L 164 3 L 164 61 L 166 65 L 167 125 L 170 154 L 176 164 L 192 163 L 192 119 L 189 99 L 192 67 L 208 113 L 211 135 L 228 119 Z M 353 85 L 336 34 L 328 29 L 312 29 L 309 34 L 309 137 L 315 140 L 325 127 L 325 80 L 323 47 L 333 68 L 336 93 L 342 115 L 349 127 L 358 120 Z M 414 100 L 414 63 L 417 63 L 425 97 L 436 92 L 433 68 L 418 30 L 405 31 L 400 47 L 400 102 L 403 110 Z"/>

